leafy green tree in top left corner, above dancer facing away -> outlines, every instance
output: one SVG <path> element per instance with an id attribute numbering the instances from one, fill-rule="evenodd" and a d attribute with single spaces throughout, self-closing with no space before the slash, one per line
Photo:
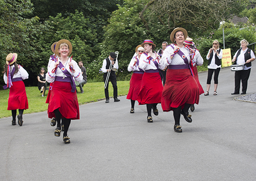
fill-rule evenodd
<path id="1" fill-rule="evenodd" d="M 40 45 L 37 39 L 43 29 L 49 27 L 38 23 L 38 17 L 26 18 L 32 12 L 32 4 L 25 0 L 0 0 L 0 70 L 6 62 L 6 56 L 17 53 L 17 62 L 29 72 L 32 60 L 38 57 Z M 26 80 L 28 84 L 31 80 Z M 0 76 L 3 82 L 3 74 Z"/>

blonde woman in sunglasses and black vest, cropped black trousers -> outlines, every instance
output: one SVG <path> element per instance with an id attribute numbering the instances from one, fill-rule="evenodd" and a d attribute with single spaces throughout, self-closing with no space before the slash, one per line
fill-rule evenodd
<path id="1" fill-rule="evenodd" d="M 208 77 L 206 83 L 206 93 L 205 96 L 209 96 L 210 82 L 212 74 L 214 74 L 214 95 L 217 95 L 218 87 L 218 77 L 221 70 L 221 59 L 222 59 L 222 50 L 220 49 L 220 43 L 218 40 L 214 40 L 212 43 L 212 48 L 210 48 L 206 59 L 208 61 Z"/>

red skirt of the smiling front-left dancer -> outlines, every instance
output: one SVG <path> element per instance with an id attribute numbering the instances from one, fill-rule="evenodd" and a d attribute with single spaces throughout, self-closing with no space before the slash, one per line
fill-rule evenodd
<path id="1" fill-rule="evenodd" d="M 55 81 L 48 105 L 48 117 L 55 117 L 54 110 L 59 108 L 62 117 L 72 120 L 79 119 L 79 105 L 76 92 L 71 92 L 70 82 Z"/>

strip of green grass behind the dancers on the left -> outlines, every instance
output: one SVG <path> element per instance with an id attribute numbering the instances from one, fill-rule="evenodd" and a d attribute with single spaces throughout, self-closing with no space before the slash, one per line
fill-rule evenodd
<path id="1" fill-rule="evenodd" d="M 129 82 L 130 81 L 118 81 L 118 96 L 127 95 L 129 90 Z M 80 94 L 80 89 L 77 87 L 77 99 L 79 105 L 86 104 L 90 102 L 95 102 L 98 100 L 102 100 L 105 98 L 104 94 L 104 83 L 103 82 L 94 82 L 87 83 L 83 86 L 84 93 Z M 45 97 L 41 97 L 41 94 L 37 87 L 26 87 L 29 108 L 24 110 L 24 114 L 30 114 L 33 112 L 41 112 L 46 111 L 48 104 L 46 104 L 46 98 L 48 91 L 46 92 Z M 109 85 L 109 95 L 113 96 L 113 87 L 110 83 Z M 9 89 L 0 90 L 0 118 L 6 118 L 11 116 L 11 111 L 7 110 L 8 106 L 8 97 L 9 97 Z"/>

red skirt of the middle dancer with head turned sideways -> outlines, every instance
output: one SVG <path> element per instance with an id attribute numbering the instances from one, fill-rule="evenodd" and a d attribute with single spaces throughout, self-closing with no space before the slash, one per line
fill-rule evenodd
<path id="1" fill-rule="evenodd" d="M 161 103 L 162 90 L 163 84 L 159 72 L 145 72 L 137 98 L 139 105 Z"/>

